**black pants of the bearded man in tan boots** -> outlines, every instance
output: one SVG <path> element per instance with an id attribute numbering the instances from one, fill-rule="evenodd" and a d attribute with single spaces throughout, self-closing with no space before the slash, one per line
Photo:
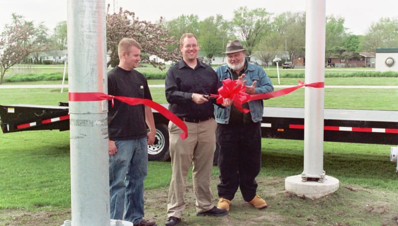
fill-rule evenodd
<path id="1" fill-rule="evenodd" d="M 261 122 L 243 125 L 217 124 L 220 146 L 218 197 L 232 200 L 238 187 L 246 202 L 256 196 L 256 176 L 261 169 Z"/>

